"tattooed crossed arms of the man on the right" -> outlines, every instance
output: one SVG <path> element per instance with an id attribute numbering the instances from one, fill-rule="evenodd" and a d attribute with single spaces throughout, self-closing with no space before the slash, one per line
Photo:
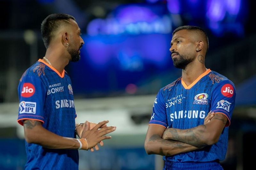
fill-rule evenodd
<path id="1" fill-rule="evenodd" d="M 159 125 L 149 125 L 144 147 L 148 154 L 163 156 L 201 149 L 218 142 L 226 122 L 225 115 L 209 112 L 204 125 L 191 129 L 165 129 Z"/>

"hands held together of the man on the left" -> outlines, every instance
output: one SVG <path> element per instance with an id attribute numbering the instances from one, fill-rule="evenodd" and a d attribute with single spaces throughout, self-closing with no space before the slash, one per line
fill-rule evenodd
<path id="1" fill-rule="evenodd" d="M 116 130 L 115 126 L 107 126 L 108 121 L 102 121 L 98 124 L 86 121 L 82 128 L 80 127 L 79 132 L 77 133 L 81 139 L 85 139 L 87 142 L 87 149 L 94 151 L 93 147 L 96 150 L 99 150 L 98 143 L 103 146 L 102 140 L 110 139 L 111 136 L 105 136 L 106 134 Z M 83 142 L 82 142 L 83 143 Z M 85 143 L 83 145 L 86 145 Z M 83 149 L 83 147 L 82 147 Z"/>

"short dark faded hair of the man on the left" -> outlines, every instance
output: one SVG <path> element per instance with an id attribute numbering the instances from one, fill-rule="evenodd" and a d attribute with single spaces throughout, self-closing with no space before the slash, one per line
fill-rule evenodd
<path id="1" fill-rule="evenodd" d="M 54 36 L 54 31 L 58 30 L 62 24 L 67 23 L 68 19 L 76 20 L 73 16 L 68 14 L 51 14 L 43 20 L 41 24 L 41 33 L 46 48 L 48 48 L 52 37 Z"/>

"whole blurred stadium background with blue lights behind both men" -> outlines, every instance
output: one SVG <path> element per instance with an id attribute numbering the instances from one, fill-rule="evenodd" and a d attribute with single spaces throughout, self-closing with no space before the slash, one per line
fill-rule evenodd
<path id="1" fill-rule="evenodd" d="M 100 151 L 80 152 L 79 169 L 161 169 L 144 139 L 158 90 L 181 75 L 170 58 L 172 31 L 204 28 L 206 67 L 236 85 L 224 169 L 254 167 L 256 25 L 253 0 L 0 0 L 0 169 L 24 169 L 17 86 L 45 53 L 40 24 L 51 13 L 73 15 L 85 45 L 70 63 L 77 122 L 108 119 L 117 130 Z"/>

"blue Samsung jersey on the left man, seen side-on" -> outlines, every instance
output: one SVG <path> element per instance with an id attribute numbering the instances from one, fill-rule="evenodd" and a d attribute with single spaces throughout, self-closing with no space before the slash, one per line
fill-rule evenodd
<path id="1" fill-rule="evenodd" d="M 76 138 L 73 90 L 65 70 L 60 74 L 39 59 L 24 72 L 18 86 L 18 122 L 37 120 L 42 126 L 62 137 Z M 25 169 L 78 169 L 77 150 L 43 148 L 26 144 Z"/>

